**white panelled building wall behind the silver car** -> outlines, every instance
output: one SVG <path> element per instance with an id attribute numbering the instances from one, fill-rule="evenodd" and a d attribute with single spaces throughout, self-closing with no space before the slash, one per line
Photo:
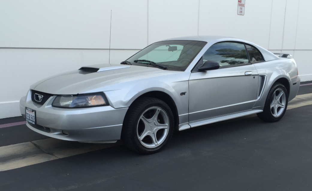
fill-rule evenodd
<path id="1" fill-rule="evenodd" d="M 112 10 L 110 44 L 110 10 Z M 0 0 L 0 118 L 42 78 L 81 66 L 120 63 L 158 40 L 191 35 L 239 37 L 294 55 L 312 80 L 312 1 Z"/>

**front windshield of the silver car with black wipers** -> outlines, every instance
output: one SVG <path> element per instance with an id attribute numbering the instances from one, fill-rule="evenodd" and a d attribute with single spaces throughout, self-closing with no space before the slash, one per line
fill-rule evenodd
<path id="1" fill-rule="evenodd" d="M 185 71 L 206 43 L 202 41 L 156 42 L 139 51 L 126 61 L 137 66 L 157 67 L 146 64 L 148 62 L 154 62 L 157 65 L 166 66 L 168 70 Z"/>

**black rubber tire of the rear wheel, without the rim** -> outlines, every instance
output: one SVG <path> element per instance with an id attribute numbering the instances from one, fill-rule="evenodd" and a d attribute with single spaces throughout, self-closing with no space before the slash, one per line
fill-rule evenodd
<path id="1" fill-rule="evenodd" d="M 279 88 L 285 92 L 286 103 L 285 103 L 283 112 L 278 117 L 275 117 L 275 116 L 273 116 L 273 114 L 271 112 L 271 106 L 270 105 L 271 105 L 271 99 L 272 99 L 273 93 Z M 271 89 L 268 93 L 268 96 L 266 97 L 266 102 L 264 104 L 263 112 L 257 113 L 257 115 L 261 120 L 264 120 L 266 122 L 277 122 L 280 119 L 282 119 L 282 117 L 284 116 L 286 109 L 287 109 L 287 105 L 288 105 L 288 92 L 287 92 L 285 86 L 281 83 L 275 82 L 273 84 L 273 86 L 271 87 Z"/>

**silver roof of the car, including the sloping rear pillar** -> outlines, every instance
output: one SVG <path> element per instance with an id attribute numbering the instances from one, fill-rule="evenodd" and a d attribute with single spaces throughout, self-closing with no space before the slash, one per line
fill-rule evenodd
<path id="1" fill-rule="evenodd" d="M 256 47 L 261 53 L 265 61 L 271 61 L 271 60 L 276 60 L 280 59 L 278 56 L 274 55 L 272 52 L 266 50 L 265 48 L 260 47 L 259 45 L 256 45 L 255 43 L 235 38 L 235 37 L 225 37 L 225 36 L 189 36 L 189 37 L 176 37 L 176 38 L 169 38 L 166 40 L 162 41 L 203 41 L 207 42 L 207 45 L 210 47 L 211 45 L 222 42 L 222 41 L 238 41 L 238 42 L 243 42 L 250 44 L 254 47 Z M 162 42 L 158 41 L 158 42 Z"/>

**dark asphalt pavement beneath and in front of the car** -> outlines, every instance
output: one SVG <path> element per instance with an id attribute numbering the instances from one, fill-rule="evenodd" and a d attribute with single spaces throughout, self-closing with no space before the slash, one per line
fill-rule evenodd
<path id="1" fill-rule="evenodd" d="M 302 87 L 312 92 L 312 86 Z M 0 191 L 312 190 L 312 105 L 297 103 L 311 104 L 305 95 L 296 99 L 277 123 L 249 117 L 184 130 L 152 155 L 132 153 L 121 143 L 57 142 L 26 125 L 0 128 L 0 169 L 12 166 L 0 170 Z M 0 125 L 23 120 L 1 119 Z M 25 156 L 10 155 L 13 148 Z M 50 158 L 24 166 L 38 155 Z"/>

